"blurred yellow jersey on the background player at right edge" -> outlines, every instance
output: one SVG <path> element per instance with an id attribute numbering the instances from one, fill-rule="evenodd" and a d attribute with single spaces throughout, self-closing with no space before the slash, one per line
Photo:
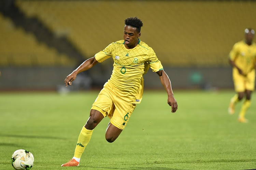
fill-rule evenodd
<path id="1" fill-rule="evenodd" d="M 256 44 L 247 45 L 245 41 L 234 44 L 229 53 L 230 60 L 242 70 L 244 74 L 248 74 L 255 67 L 256 60 Z M 237 68 L 233 68 L 236 70 Z"/>

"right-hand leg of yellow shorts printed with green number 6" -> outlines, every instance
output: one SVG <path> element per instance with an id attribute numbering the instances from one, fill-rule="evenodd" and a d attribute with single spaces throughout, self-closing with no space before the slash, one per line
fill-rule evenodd
<path id="1" fill-rule="evenodd" d="M 116 97 L 114 99 L 114 109 L 111 115 L 110 123 L 119 129 L 124 129 L 127 125 L 136 104 L 127 103 Z"/>

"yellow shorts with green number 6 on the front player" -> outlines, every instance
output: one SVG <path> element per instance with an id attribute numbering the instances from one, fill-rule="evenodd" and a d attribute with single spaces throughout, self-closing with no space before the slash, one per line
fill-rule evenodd
<path id="1" fill-rule="evenodd" d="M 135 107 L 136 104 L 125 102 L 112 90 L 103 88 L 91 109 L 100 111 L 104 117 L 108 116 L 111 124 L 123 130 Z"/>

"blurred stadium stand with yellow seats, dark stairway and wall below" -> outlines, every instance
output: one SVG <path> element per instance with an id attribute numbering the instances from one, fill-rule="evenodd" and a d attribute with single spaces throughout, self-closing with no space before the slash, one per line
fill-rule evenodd
<path id="1" fill-rule="evenodd" d="M 142 19 L 140 38 L 155 50 L 173 87 L 194 87 L 196 74 L 200 88 L 232 88 L 227 56 L 246 27 L 256 29 L 255 9 L 255 1 L 2 0 L 0 88 L 21 87 L 4 83 L 9 77 L 4 75 L 32 67 L 38 74 L 51 67 L 58 78 L 48 86 L 31 80 L 22 87 L 54 88 L 78 63 L 123 39 L 124 19 L 130 16 Z M 93 85 L 102 86 L 111 70 L 111 60 L 96 65 L 89 72 Z M 161 87 L 155 79 L 149 71 L 145 87 Z"/>

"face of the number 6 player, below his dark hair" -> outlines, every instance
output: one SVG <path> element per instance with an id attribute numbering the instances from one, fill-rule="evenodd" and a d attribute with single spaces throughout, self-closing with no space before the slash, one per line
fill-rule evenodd
<path id="1" fill-rule="evenodd" d="M 124 28 L 124 41 L 125 47 L 130 49 L 136 47 L 138 44 L 138 38 L 140 36 L 140 32 L 137 31 L 136 28 L 125 25 Z"/>

